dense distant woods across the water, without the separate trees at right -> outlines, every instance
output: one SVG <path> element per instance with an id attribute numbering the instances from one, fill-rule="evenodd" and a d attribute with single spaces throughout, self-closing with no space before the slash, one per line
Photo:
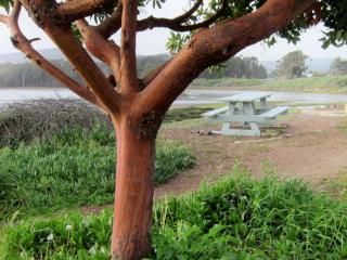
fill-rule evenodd
<path id="1" fill-rule="evenodd" d="M 160 64 L 170 58 L 169 55 L 139 56 L 138 74 L 146 75 Z M 54 64 L 77 81 L 81 81 L 79 76 L 65 61 L 54 61 Z M 105 74 L 107 69 L 103 64 L 99 64 Z M 267 78 L 266 68 L 259 64 L 256 57 L 232 57 L 218 69 L 218 72 L 204 72 L 201 78 Z M 62 87 L 60 82 L 50 75 L 39 69 L 36 65 L 27 63 L 5 63 L 0 64 L 0 87 Z"/>

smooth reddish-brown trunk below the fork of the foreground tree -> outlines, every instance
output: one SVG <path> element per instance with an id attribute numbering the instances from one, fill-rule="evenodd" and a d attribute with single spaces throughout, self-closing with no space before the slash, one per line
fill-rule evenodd
<path id="1" fill-rule="evenodd" d="M 155 136 L 140 123 L 115 123 L 117 172 L 112 236 L 113 259 L 137 260 L 151 252 Z"/>

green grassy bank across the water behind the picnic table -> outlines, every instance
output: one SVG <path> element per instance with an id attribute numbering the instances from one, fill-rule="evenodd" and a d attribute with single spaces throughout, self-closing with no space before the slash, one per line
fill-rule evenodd
<path id="1" fill-rule="evenodd" d="M 297 79 L 196 79 L 191 88 L 347 93 L 347 76 Z"/>

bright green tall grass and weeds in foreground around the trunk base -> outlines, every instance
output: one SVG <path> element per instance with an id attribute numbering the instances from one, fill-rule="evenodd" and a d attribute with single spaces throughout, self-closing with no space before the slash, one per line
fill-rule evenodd
<path id="1" fill-rule="evenodd" d="M 232 177 L 155 205 L 150 259 L 346 259 L 347 205 L 298 180 Z M 110 259 L 112 210 L 5 229 L 3 259 Z"/>

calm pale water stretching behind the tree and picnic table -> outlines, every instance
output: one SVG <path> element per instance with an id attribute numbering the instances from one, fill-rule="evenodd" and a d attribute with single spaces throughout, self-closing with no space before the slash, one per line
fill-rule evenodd
<path id="1" fill-rule="evenodd" d="M 188 90 L 175 102 L 175 105 L 210 104 L 220 102 L 221 98 L 233 95 L 240 92 L 234 90 Z M 267 91 L 259 91 L 267 92 Z M 324 103 L 324 102 L 347 102 L 345 94 L 316 94 L 298 92 L 272 91 L 270 101 L 283 101 L 291 103 Z M 26 89 L 0 89 L 0 104 L 25 101 L 31 99 L 78 99 L 67 89 L 53 88 L 26 88 Z"/>

